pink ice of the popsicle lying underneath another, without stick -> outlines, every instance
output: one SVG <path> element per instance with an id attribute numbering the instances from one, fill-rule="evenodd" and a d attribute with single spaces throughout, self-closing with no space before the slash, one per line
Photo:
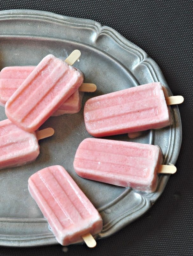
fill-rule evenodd
<path id="1" fill-rule="evenodd" d="M 35 66 L 5 67 L 0 72 L 0 105 L 4 107 L 11 95 L 24 80 L 32 73 Z M 75 91 L 52 116 L 74 114 L 82 107 L 82 92 Z"/>

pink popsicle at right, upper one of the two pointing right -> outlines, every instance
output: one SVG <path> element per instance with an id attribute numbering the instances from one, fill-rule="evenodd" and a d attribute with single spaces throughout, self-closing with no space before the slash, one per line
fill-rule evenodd
<path id="1" fill-rule="evenodd" d="M 163 89 L 160 82 L 155 82 L 87 100 L 84 106 L 87 131 L 103 137 L 170 125 L 172 118 L 166 100 L 169 102 L 171 97 Z M 183 101 L 182 96 L 175 97 Z"/>

